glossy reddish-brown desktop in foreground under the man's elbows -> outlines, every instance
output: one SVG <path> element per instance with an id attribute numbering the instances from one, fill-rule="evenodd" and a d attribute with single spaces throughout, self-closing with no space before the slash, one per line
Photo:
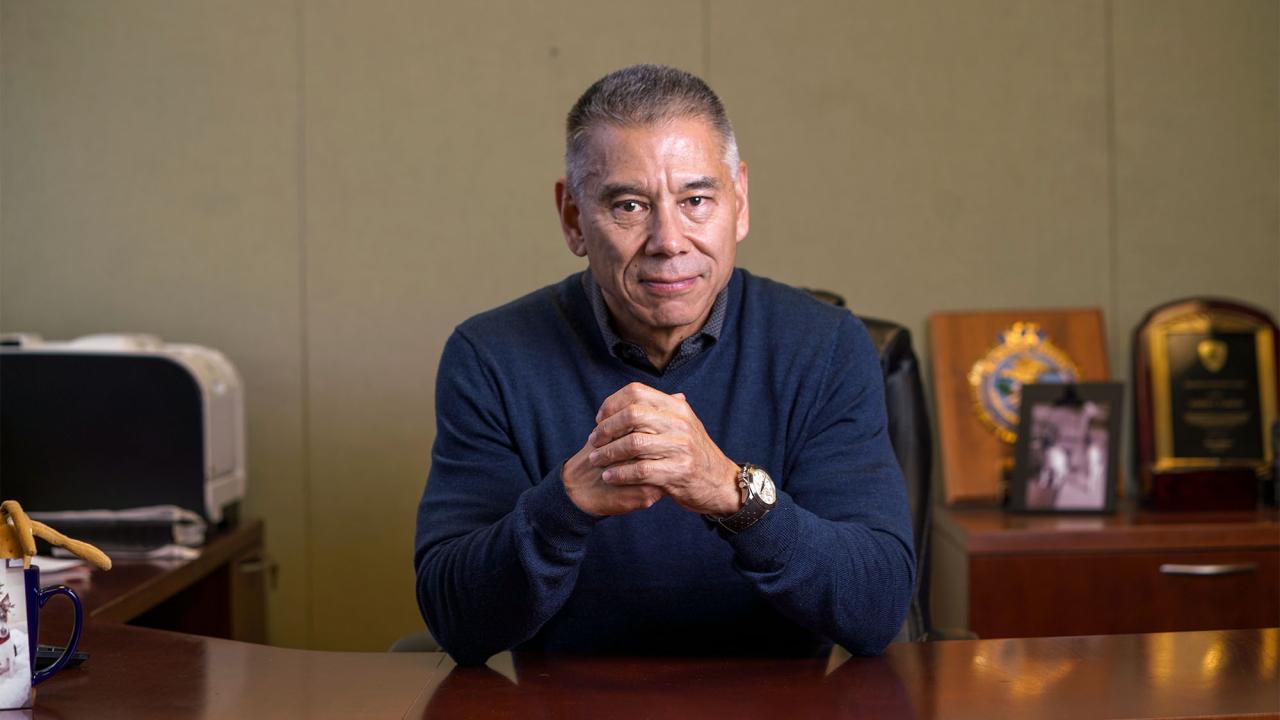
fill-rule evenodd
<path id="1" fill-rule="evenodd" d="M 882 657 L 552 659 L 282 650 L 95 621 L 40 716 L 1280 717 L 1280 629 L 897 644 Z"/>

